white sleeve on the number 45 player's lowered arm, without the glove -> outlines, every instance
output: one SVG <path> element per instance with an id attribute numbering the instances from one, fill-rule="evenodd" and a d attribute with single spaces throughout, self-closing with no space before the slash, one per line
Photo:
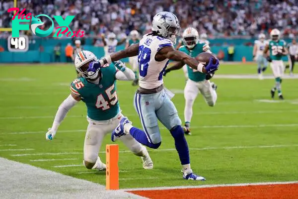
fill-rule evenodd
<path id="1" fill-rule="evenodd" d="M 74 100 L 74 98 L 72 97 L 72 95 L 69 95 L 69 97 L 67 99 L 65 99 L 59 106 L 56 115 L 55 115 L 55 119 L 52 125 L 52 129 L 56 132 L 60 123 L 63 121 L 63 119 L 65 118 L 66 114 L 68 113 L 68 111 L 74 107 L 74 105 L 77 103 L 77 100 Z"/>

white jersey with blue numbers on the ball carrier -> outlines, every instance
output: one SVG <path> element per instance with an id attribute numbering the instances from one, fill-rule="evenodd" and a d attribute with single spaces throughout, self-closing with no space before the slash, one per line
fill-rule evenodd
<path id="1" fill-rule="evenodd" d="M 169 59 L 155 61 L 156 53 L 173 43 L 159 36 L 145 35 L 139 43 L 139 85 L 144 89 L 154 89 L 163 84 L 162 74 L 169 63 Z"/>

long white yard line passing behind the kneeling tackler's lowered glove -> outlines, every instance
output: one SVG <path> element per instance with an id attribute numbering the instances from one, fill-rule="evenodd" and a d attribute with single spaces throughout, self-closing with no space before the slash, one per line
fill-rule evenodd
<path id="1" fill-rule="evenodd" d="M 213 126 L 191 126 L 191 128 L 259 128 L 259 127 L 290 127 L 298 126 L 295 124 L 259 124 L 259 125 L 213 125 Z M 166 129 L 165 127 L 160 127 L 160 129 Z M 85 132 L 86 130 L 59 130 L 58 133 L 68 133 L 68 132 Z M 1 132 L 0 134 L 31 134 L 31 133 L 46 133 L 46 131 L 24 131 L 24 132 Z"/>

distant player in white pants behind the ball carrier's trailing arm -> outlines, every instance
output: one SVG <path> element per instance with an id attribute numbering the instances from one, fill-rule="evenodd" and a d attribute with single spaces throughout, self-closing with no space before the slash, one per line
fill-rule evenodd
<path id="1" fill-rule="evenodd" d="M 130 32 L 130 39 L 127 40 L 125 48 L 130 47 L 133 44 L 139 43 L 139 32 L 137 30 L 132 30 Z M 139 77 L 138 77 L 138 68 L 139 68 L 139 63 L 138 63 L 138 56 L 134 57 L 129 57 L 128 58 L 129 63 L 131 67 L 133 68 L 133 71 L 135 73 L 135 79 L 133 81 L 133 86 L 137 86 L 139 84 Z"/>

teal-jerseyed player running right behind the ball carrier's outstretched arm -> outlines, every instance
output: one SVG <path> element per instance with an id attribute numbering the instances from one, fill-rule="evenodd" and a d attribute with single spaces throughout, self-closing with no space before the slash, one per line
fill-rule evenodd
<path id="1" fill-rule="evenodd" d="M 185 29 L 183 32 L 184 45 L 179 48 L 179 51 L 182 51 L 192 57 L 196 57 L 202 52 L 211 53 L 209 45 L 200 43 L 198 40 L 199 33 L 195 28 L 190 27 Z M 184 89 L 184 132 L 187 135 L 191 135 L 190 122 L 192 117 L 192 107 L 195 99 L 197 98 L 197 95 L 200 92 L 206 100 L 207 104 L 210 106 L 214 106 L 217 100 L 217 86 L 209 81 L 212 78 L 213 74 L 204 74 L 187 65 L 184 66 L 187 67 L 188 72 L 188 80 Z M 174 66 L 165 69 L 164 75 L 172 70 L 181 69 L 184 66 L 180 63 L 177 63 Z"/>

